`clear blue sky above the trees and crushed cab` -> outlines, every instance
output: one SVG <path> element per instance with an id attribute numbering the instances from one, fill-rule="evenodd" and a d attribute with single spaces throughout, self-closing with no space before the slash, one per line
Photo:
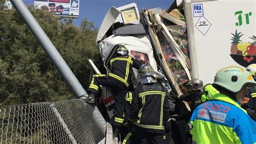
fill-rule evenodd
<path id="1" fill-rule="evenodd" d="M 34 0 L 23 0 L 25 4 L 33 4 Z M 94 22 L 96 27 L 99 28 L 102 20 L 104 19 L 107 10 L 111 6 L 119 7 L 130 3 L 136 3 L 138 9 L 152 9 L 161 7 L 162 9 L 169 9 L 173 0 L 79 0 L 79 18 L 73 19 L 73 25 L 79 26 L 81 20 L 84 18 Z"/>

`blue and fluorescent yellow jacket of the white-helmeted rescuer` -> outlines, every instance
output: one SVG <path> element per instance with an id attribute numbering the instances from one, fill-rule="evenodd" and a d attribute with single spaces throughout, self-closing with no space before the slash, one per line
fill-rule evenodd
<path id="1" fill-rule="evenodd" d="M 191 116 L 197 143 L 254 143 L 256 124 L 246 111 L 224 94 L 199 105 Z"/>

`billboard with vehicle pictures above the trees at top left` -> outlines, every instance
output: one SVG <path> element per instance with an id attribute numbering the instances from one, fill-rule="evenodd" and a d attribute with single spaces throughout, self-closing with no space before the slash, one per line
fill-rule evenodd
<path id="1" fill-rule="evenodd" d="M 35 8 L 64 17 L 79 16 L 79 0 L 35 0 Z"/>

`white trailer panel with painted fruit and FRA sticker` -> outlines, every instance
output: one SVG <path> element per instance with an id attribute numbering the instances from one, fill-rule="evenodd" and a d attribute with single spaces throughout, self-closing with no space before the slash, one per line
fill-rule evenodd
<path id="1" fill-rule="evenodd" d="M 213 83 L 222 67 L 256 63 L 256 1 L 184 0 L 192 77 Z"/>

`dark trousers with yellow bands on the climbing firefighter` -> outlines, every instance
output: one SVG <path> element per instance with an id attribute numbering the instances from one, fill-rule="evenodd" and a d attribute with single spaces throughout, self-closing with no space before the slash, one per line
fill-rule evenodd
<path id="1" fill-rule="evenodd" d="M 121 127 L 124 121 L 124 102 L 127 93 L 127 87 L 118 83 L 116 80 L 109 78 L 105 74 L 96 74 L 92 78 L 88 91 L 97 93 L 99 85 L 110 87 L 115 104 L 113 107 L 113 124 L 116 127 Z"/>

